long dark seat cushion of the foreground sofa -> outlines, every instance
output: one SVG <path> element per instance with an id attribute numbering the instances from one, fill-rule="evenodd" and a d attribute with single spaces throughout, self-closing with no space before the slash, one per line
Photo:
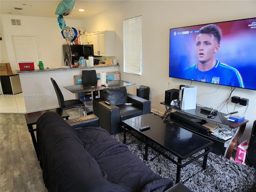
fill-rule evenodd
<path id="1" fill-rule="evenodd" d="M 86 127 L 77 131 L 84 148 L 94 157 L 110 182 L 128 188 L 129 192 L 161 192 L 172 186 L 172 180 L 150 170 L 106 130 Z"/>

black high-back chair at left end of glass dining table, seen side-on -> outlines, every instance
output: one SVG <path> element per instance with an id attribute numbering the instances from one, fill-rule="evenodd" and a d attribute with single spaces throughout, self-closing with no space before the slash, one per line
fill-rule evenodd
<path id="1" fill-rule="evenodd" d="M 56 83 L 56 81 L 51 78 L 54 90 L 56 92 L 57 98 L 58 98 L 58 102 L 59 102 L 59 106 L 62 109 L 71 109 L 71 108 L 79 108 L 79 116 L 81 116 L 81 110 L 80 108 L 83 108 L 84 110 L 84 116 L 86 115 L 85 113 L 85 105 L 82 101 L 80 101 L 79 99 L 72 99 L 72 100 L 66 100 L 64 101 L 64 97 L 63 94 L 58 86 L 58 84 Z"/>

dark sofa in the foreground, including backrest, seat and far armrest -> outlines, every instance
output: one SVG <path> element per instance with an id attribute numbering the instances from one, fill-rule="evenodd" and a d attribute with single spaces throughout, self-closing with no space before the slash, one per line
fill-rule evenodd
<path id="1" fill-rule="evenodd" d="M 36 126 L 49 192 L 162 192 L 173 185 L 99 128 L 95 115 L 65 121 L 47 112 Z"/>

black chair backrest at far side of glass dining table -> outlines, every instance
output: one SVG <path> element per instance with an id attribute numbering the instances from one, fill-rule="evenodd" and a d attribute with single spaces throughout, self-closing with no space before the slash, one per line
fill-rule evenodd
<path id="1" fill-rule="evenodd" d="M 82 84 L 84 89 L 94 90 L 97 88 L 97 74 L 96 70 L 83 70 L 82 71 Z"/>

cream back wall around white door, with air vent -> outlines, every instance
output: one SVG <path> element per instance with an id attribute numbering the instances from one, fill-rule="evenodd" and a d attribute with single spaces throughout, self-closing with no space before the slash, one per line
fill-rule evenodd
<path id="1" fill-rule="evenodd" d="M 21 26 L 12 26 L 11 19 L 20 19 Z M 1 62 L 10 62 L 12 71 L 19 70 L 12 36 L 36 36 L 39 44 L 39 57 L 44 62 L 44 68 L 56 68 L 64 65 L 61 29 L 56 18 L 13 16 L 1 14 Z M 66 26 L 79 29 L 79 20 L 66 20 Z M 37 65 L 38 61 L 34 61 Z"/>

